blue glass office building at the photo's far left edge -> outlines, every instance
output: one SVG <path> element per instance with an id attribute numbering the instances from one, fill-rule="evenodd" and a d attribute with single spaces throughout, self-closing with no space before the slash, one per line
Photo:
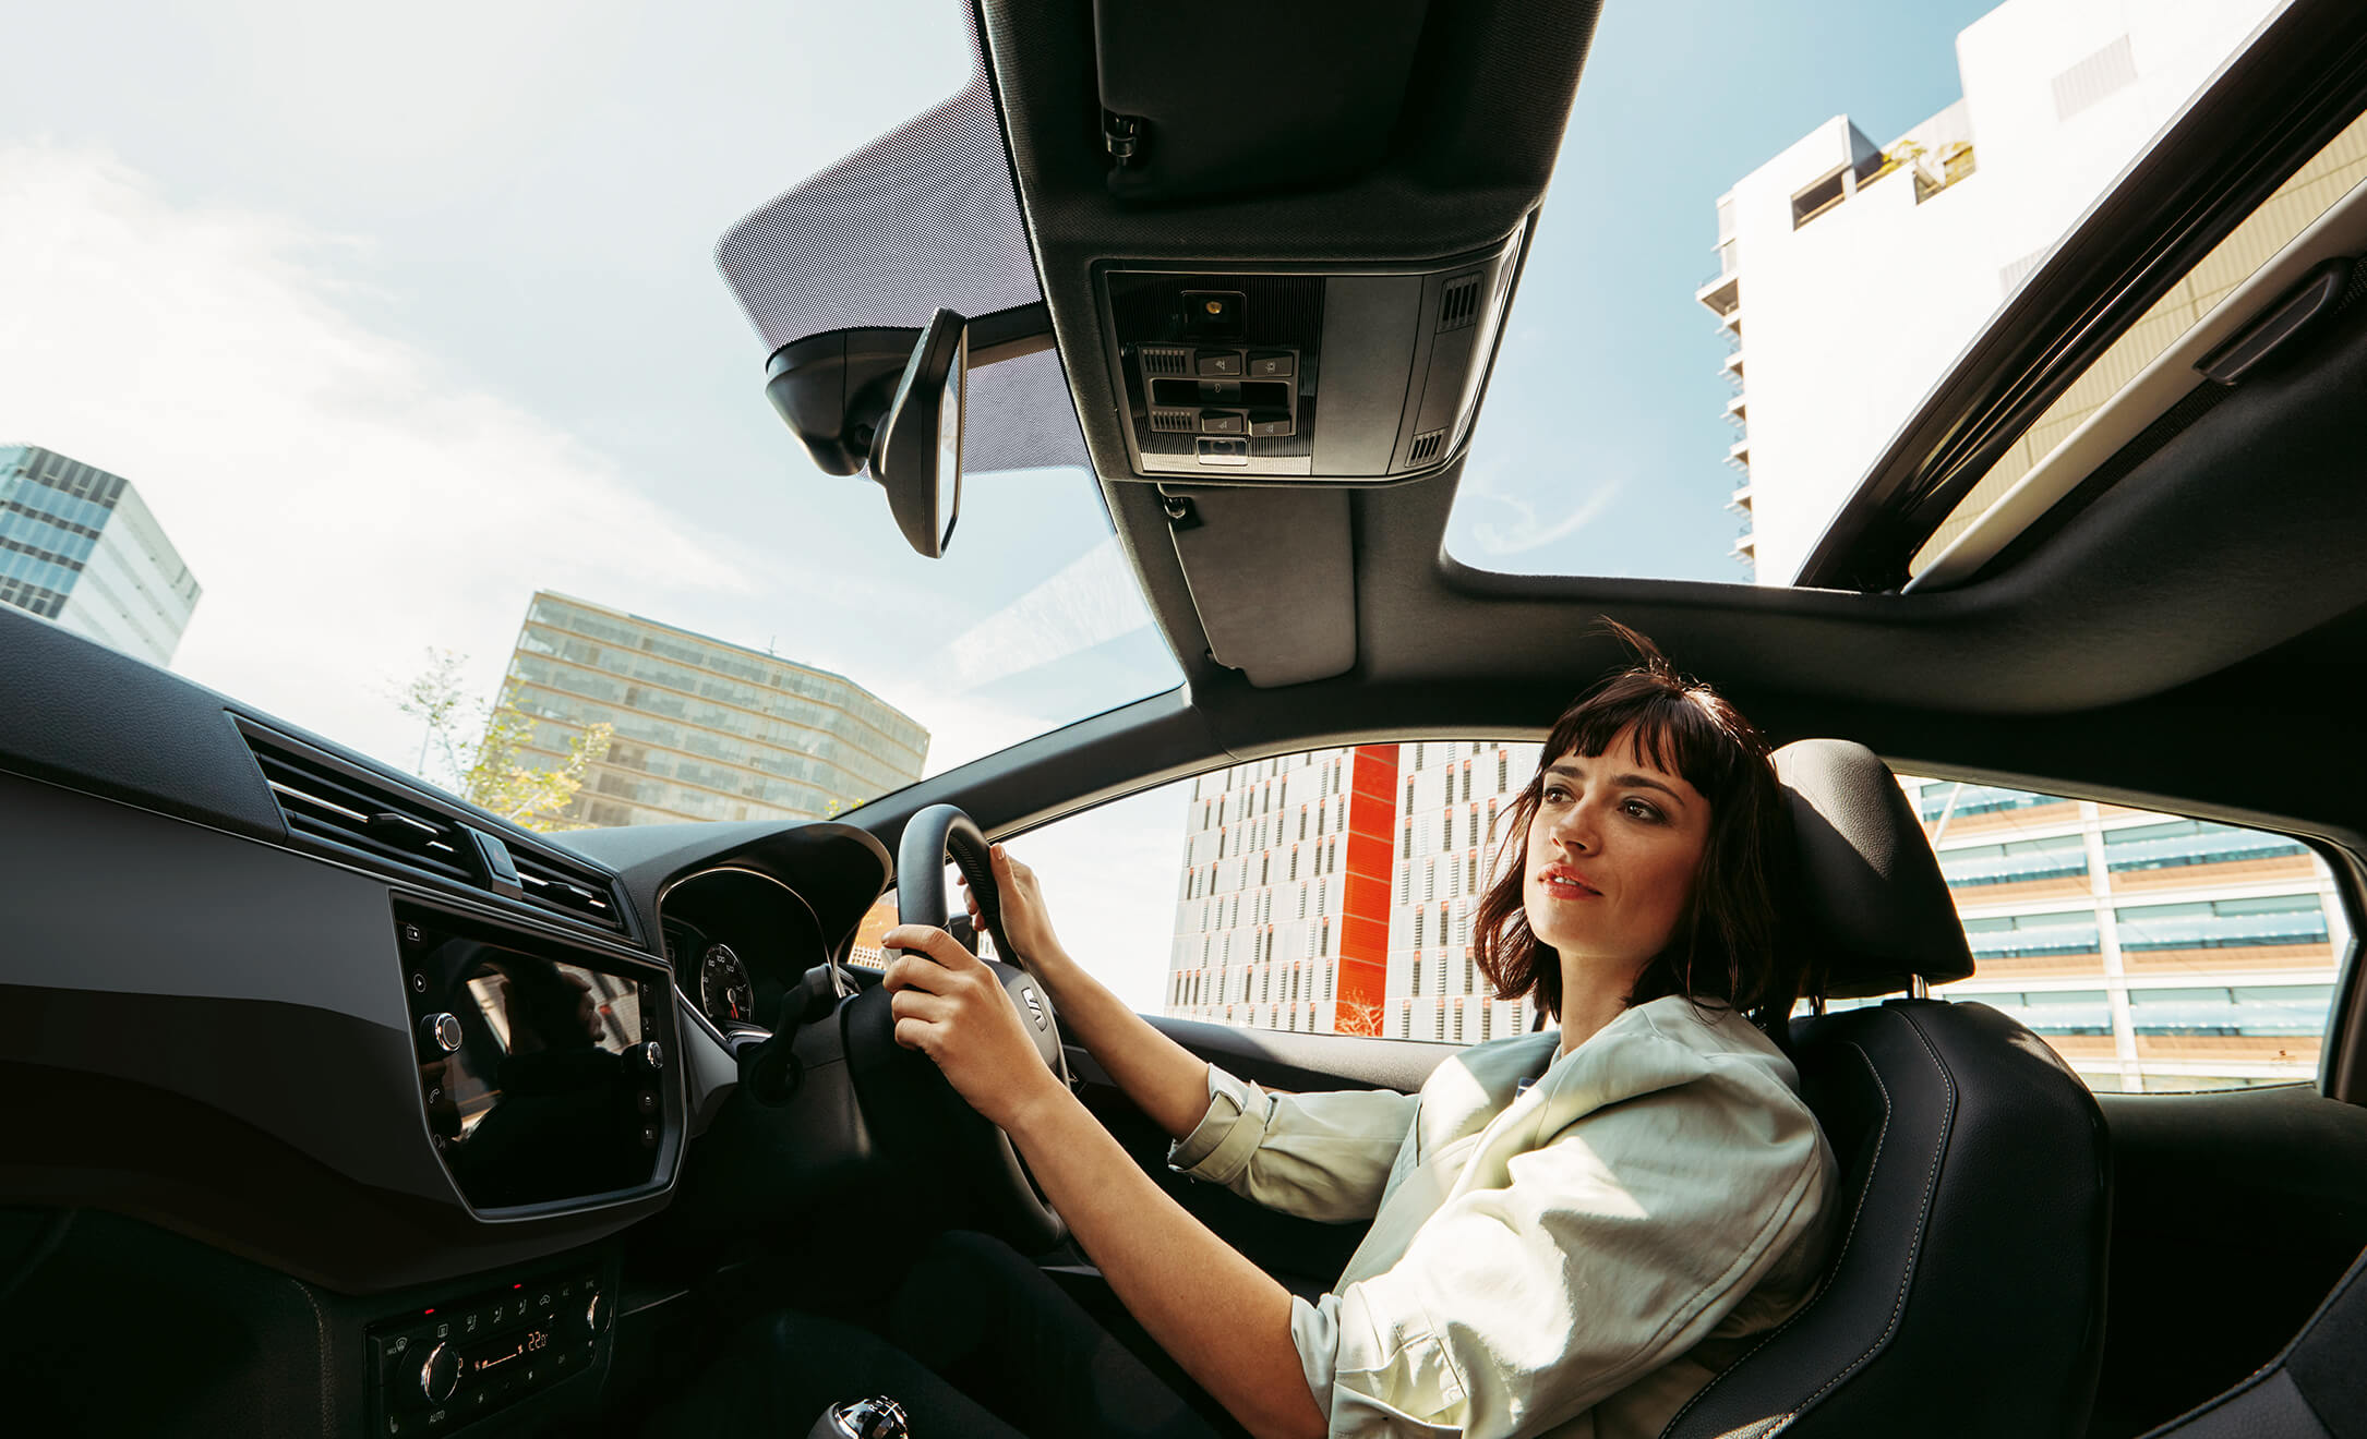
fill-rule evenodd
<path id="1" fill-rule="evenodd" d="M 0 604 L 170 665 L 201 587 L 123 476 L 0 445 Z"/>

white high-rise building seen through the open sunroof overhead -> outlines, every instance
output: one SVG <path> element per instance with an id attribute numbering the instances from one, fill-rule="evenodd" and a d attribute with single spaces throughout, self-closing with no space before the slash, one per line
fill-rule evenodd
<path id="1" fill-rule="evenodd" d="M 1759 580 L 1799 573 L 2000 301 L 2275 9 L 2007 0 L 1955 38 L 1962 99 L 1889 144 L 1839 114 L 1718 196 L 1718 275 L 1695 298 L 1730 343 L 1735 556 Z"/>

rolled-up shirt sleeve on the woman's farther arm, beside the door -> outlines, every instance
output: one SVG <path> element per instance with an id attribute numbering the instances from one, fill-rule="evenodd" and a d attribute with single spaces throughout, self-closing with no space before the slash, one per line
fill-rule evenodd
<path id="1" fill-rule="evenodd" d="M 1370 1219 L 1420 1101 L 1394 1089 L 1269 1093 L 1207 1067 L 1207 1115 L 1167 1164 L 1299 1219 Z"/>

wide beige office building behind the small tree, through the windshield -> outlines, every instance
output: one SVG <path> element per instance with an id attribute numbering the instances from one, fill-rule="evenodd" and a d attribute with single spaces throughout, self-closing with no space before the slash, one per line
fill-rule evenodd
<path id="1" fill-rule="evenodd" d="M 613 724 L 563 819 L 826 819 L 921 779 L 928 731 L 864 686 L 537 592 L 502 698 L 537 720 L 523 755 L 566 762 L 587 724 Z"/>

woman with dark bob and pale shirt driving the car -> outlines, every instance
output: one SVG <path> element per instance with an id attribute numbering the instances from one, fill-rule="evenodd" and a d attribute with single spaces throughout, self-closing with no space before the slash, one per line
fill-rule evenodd
<path id="1" fill-rule="evenodd" d="M 1811 987 L 1778 925 L 1782 798 L 1749 722 L 1612 630 L 1638 663 L 1553 727 L 1475 923 L 1496 996 L 1560 1030 L 1465 1048 L 1420 1096 L 1269 1093 L 1191 1056 L 1070 959 L 994 847 L 1011 944 L 1176 1169 L 1373 1221 L 1318 1302 L 1160 1190 L 959 942 L 890 930 L 897 1041 L 1011 1136 L 1139 1323 L 1112 1337 L 968 1235 L 916 1264 L 892 1337 L 1032 1434 L 1610 1437 L 1655 1434 L 1799 1309 L 1837 1174 L 1775 1039 Z"/>

